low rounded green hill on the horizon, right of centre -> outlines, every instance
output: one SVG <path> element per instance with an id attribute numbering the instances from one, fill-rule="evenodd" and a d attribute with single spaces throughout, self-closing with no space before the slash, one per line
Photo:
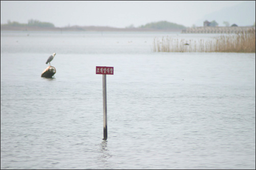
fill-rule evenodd
<path id="1" fill-rule="evenodd" d="M 149 28 L 149 29 L 185 29 L 184 25 L 178 25 L 172 22 L 159 21 L 151 22 L 140 26 L 139 28 Z"/>

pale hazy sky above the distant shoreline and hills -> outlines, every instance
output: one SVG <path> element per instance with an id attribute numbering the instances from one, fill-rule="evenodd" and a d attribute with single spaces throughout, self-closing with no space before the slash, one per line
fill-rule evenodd
<path id="1" fill-rule="evenodd" d="M 192 26 L 204 15 L 244 1 L 1 1 L 1 24 L 35 19 L 63 26 L 135 27 L 168 21 Z M 202 26 L 202 25 L 196 25 Z"/>

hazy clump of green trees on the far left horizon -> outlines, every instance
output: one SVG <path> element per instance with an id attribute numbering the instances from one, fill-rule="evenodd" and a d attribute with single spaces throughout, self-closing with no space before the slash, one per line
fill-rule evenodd
<path id="1" fill-rule="evenodd" d="M 7 24 L 1 24 L 1 25 L 7 25 L 7 26 L 37 26 L 37 27 L 50 27 L 50 28 L 55 27 L 54 24 L 52 24 L 50 22 L 41 22 L 41 21 L 33 20 L 33 19 L 30 19 L 27 24 L 19 23 L 19 22 L 16 22 L 16 21 L 11 22 L 10 20 L 8 20 Z"/>

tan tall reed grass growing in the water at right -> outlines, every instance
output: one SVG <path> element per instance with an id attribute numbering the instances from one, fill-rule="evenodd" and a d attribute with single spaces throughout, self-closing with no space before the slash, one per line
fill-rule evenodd
<path id="1" fill-rule="evenodd" d="M 154 52 L 242 52 L 255 53 L 255 29 L 221 35 L 208 40 L 155 38 Z"/>

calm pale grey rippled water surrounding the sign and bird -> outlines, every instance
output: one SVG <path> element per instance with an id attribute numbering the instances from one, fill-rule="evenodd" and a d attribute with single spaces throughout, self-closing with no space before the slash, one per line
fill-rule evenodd
<path id="1" fill-rule="evenodd" d="M 255 53 L 154 53 L 167 35 L 213 36 L 2 31 L 1 169 L 255 169 Z"/>

